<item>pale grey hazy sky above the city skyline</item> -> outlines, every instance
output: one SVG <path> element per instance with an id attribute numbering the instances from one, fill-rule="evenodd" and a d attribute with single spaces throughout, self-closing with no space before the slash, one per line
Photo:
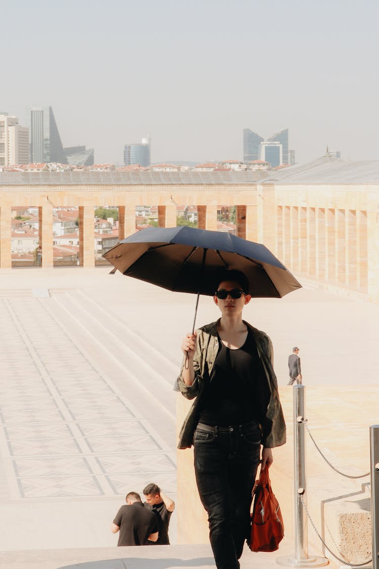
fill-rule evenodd
<path id="1" fill-rule="evenodd" d="M 51 105 L 64 146 L 123 161 L 241 159 L 242 130 L 289 127 L 297 162 L 326 145 L 379 158 L 377 0 L 12 0 L 0 111 Z"/>

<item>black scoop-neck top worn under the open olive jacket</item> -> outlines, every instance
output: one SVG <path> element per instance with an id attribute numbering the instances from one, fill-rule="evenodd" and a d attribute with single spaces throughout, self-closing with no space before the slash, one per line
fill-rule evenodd
<path id="1" fill-rule="evenodd" d="M 220 348 L 205 386 L 199 421 L 209 425 L 260 422 L 262 393 L 268 400 L 268 385 L 260 381 L 260 358 L 251 331 L 241 348 L 227 348 L 219 338 Z"/>

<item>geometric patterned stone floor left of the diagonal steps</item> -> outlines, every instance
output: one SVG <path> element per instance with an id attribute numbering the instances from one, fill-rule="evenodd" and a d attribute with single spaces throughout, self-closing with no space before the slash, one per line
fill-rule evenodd
<path id="1" fill-rule="evenodd" d="M 0 299 L 0 450 L 9 499 L 176 491 L 174 453 L 38 298 Z"/>

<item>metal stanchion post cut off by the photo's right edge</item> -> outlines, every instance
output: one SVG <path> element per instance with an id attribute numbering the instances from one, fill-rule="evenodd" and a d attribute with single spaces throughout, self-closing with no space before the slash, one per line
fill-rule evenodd
<path id="1" fill-rule="evenodd" d="M 370 426 L 372 569 L 379 569 L 379 425 Z"/>

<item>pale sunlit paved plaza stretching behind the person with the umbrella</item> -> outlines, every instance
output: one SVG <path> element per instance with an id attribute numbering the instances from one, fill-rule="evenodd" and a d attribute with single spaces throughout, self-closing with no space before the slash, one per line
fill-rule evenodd
<path id="1" fill-rule="evenodd" d="M 0 279 L 0 550 L 114 547 L 110 523 L 129 490 L 153 481 L 176 500 L 172 386 L 195 297 L 107 267 L 2 270 Z M 245 318 L 272 337 L 289 434 L 287 360 L 298 345 L 317 434 L 343 462 L 352 444 L 328 438 L 325 414 L 332 427 L 352 425 L 360 471 L 369 464 L 364 420 L 379 422 L 379 306 L 303 284 L 283 299 L 253 299 Z M 213 301 L 202 298 L 197 325 L 216 318 Z M 277 453 L 290 468 L 287 455 Z M 176 543 L 175 513 L 170 529 Z M 7 554 L 2 562 L 10 563 Z"/>

